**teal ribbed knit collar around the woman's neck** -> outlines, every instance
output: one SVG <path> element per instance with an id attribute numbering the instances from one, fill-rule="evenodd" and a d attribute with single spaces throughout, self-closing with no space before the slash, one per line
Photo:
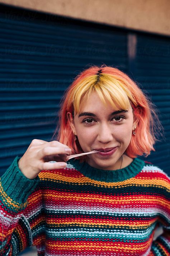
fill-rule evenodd
<path id="1" fill-rule="evenodd" d="M 77 159 L 68 161 L 74 168 L 84 176 L 98 181 L 119 182 L 136 176 L 145 166 L 145 162 L 140 158 L 134 158 L 128 166 L 117 170 L 101 170 L 91 167 L 88 163 L 80 163 Z"/>

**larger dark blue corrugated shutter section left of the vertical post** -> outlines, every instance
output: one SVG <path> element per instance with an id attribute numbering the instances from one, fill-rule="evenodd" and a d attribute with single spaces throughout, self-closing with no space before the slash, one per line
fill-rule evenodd
<path id="1" fill-rule="evenodd" d="M 127 32 L 0 6 L 0 175 L 31 141 L 50 141 L 61 96 L 87 64 L 127 72 Z"/>

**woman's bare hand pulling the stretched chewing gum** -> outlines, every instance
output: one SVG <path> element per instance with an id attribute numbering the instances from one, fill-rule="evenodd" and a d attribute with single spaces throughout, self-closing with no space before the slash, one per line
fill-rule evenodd
<path id="1" fill-rule="evenodd" d="M 18 161 L 21 172 L 28 179 L 34 179 L 42 170 L 53 170 L 66 167 L 66 161 L 71 154 L 71 149 L 56 140 L 33 139 L 25 154 Z M 56 161 L 57 163 L 48 163 Z"/>

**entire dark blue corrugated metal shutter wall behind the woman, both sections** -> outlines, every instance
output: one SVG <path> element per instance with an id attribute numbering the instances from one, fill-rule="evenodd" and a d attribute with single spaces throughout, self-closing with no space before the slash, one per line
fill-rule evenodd
<path id="1" fill-rule="evenodd" d="M 0 175 L 34 138 L 51 140 L 65 89 L 88 64 L 103 63 L 128 73 L 159 108 L 166 139 L 141 158 L 170 174 L 168 37 L 5 5 L 0 35 Z"/>

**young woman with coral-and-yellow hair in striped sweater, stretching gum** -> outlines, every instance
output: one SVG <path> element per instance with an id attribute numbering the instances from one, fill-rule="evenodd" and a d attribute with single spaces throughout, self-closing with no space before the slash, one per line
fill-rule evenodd
<path id="1" fill-rule="evenodd" d="M 1 255 L 32 244 L 39 256 L 170 255 L 170 178 L 138 158 L 155 151 L 162 129 L 125 73 L 105 65 L 81 72 L 54 140 L 34 139 L 1 177 Z"/>

